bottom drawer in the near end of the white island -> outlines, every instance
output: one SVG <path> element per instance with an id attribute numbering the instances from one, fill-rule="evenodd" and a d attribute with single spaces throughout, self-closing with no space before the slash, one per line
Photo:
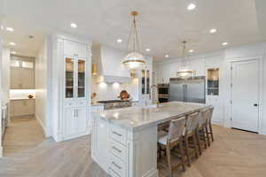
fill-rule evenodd
<path id="1" fill-rule="evenodd" d="M 115 157 L 111 154 L 110 157 L 110 165 L 109 165 L 110 173 L 113 173 L 113 176 L 126 176 L 126 165 L 120 158 Z"/>

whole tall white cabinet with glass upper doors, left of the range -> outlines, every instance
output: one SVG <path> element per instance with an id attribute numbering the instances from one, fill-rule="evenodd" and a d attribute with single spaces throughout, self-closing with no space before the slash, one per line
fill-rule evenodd
<path id="1" fill-rule="evenodd" d="M 55 140 L 66 141 L 90 133 L 90 49 L 82 42 L 56 37 L 60 78 L 59 127 Z"/>

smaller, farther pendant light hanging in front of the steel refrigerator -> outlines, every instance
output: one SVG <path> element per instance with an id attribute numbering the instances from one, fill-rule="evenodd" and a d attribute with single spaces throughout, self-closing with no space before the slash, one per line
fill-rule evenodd
<path id="1" fill-rule="evenodd" d="M 183 43 L 183 58 L 181 60 L 181 65 L 179 71 L 176 73 L 176 76 L 178 78 L 182 78 L 184 80 L 192 77 L 193 72 L 189 70 L 189 61 L 188 58 L 185 57 L 185 44 L 186 41 L 182 42 Z"/>

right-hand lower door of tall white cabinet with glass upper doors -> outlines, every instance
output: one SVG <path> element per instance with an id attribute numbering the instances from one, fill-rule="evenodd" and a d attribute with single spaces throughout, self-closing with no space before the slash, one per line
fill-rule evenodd
<path id="1" fill-rule="evenodd" d="M 76 134 L 84 134 L 87 131 L 88 121 L 86 114 L 86 107 L 76 108 L 76 117 L 74 117 Z"/>

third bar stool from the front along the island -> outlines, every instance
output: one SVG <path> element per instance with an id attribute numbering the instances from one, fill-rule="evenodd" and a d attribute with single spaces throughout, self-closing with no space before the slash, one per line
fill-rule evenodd
<path id="1" fill-rule="evenodd" d="M 204 147 L 207 149 L 207 132 L 206 132 L 206 127 L 207 127 L 207 118 L 208 118 L 208 111 L 207 109 L 203 110 L 200 112 L 200 117 L 199 117 L 199 135 L 200 135 L 200 140 L 204 142 Z M 199 143 L 199 148 L 201 149 L 201 142 Z"/>

